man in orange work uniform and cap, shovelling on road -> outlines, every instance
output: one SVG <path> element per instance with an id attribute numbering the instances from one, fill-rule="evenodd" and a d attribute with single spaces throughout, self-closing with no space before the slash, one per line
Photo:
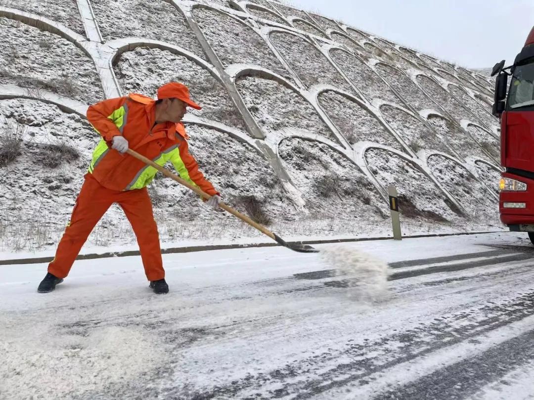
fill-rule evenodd
<path id="1" fill-rule="evenodd" d="M 172 162 L 180 177 L 211 195 L 207 204 L 217 208 L 219 193 L 187 150 L 188 137 L 181 122 L 187 106 L 201 108 L 191 100 L 185 85 L 171 82 L 158 89 L 158 100 L 131 93 L 88 108 L 87 119 L 102 139 L 38 292 L 51 292 L 63 281 L 92 229 L 113 203 L 122 207 L 136 234 L 150 287 L 158 294 L 169 292 L 146 189 L 157 170 L 124 153 L 132 148 L 161 166 Z"/>

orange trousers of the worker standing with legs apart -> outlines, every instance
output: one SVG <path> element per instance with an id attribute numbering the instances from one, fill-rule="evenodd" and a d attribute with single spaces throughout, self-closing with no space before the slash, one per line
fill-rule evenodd
<path id="1" fill-rule="evenodd" d="M 158 227 L 146 187 L 127 191 L 110 190 L 100 185 L 91 174 L 85 175 L 70 223 L 59 242 L 56 257 L 48 265 L 48 272 L 58 278 L 68 275 L 89 234 L 113 203 L 119 203 L 132 225 L 147 279 L 159 280 L 165 277 Z"/>

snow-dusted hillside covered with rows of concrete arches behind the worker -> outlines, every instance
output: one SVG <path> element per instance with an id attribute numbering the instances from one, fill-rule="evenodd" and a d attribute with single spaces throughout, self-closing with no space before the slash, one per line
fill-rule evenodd
<path id="1" fill-rule="evenodd" d="M 501 229 L 489 77 L 269 1 L 0 0 L 0 248 L 53 248 L 99 140 L 96 101 L 180 81 L 190 148 L 282 236 Z M 436 53 L 439 49 L 436 49 Z M 256 233 L 168 178 L 163 241 Z M 93 245 L 135 241 L 112 207 Z"/>

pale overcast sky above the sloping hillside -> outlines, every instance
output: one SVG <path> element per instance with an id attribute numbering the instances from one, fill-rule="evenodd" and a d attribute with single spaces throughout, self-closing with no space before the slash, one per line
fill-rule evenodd
<path id="1" fill-rule="evenodd" d="M 534 0 L 290 0 L 398 44 L 487 68 L 512 64 L 534 26 Z"/>

